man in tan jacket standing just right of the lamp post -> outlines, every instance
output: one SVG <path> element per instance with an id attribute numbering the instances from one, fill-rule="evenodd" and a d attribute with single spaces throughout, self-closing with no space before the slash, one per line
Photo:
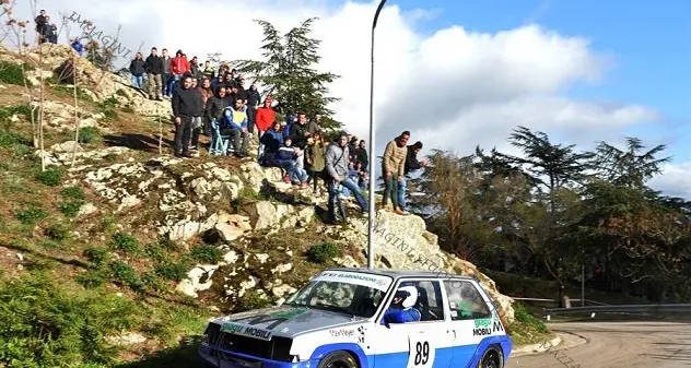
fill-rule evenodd
<path id="1" fill-rule="evenodd" d="M 386 182 L 382 206 L 386 207 L 387 200 L 390 198 L 391 204 L 394 205 L 394 212 L 399 215 L 409 214 L 403 211 L 400 207 L 400 203 L 398 203 L 398 182 L 403 179 L 406 156 L 408 155 L 406 143 L 408 143 L 409 139 L 410 132 L 402 132 L 399 136 L 386 145 L 384 157 L 382 158 L 382 171 L 384 173 L 384 180 Z"/>

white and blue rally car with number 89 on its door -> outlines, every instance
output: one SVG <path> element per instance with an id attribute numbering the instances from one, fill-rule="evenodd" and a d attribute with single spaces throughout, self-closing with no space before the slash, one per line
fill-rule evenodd
<path id="1" fill-rule="evenodd" d="M 211 321 L 199 354 L 218 368 L 502 368 L 511 349 L 472 277 L 328 269 L 280 307 Z"/>

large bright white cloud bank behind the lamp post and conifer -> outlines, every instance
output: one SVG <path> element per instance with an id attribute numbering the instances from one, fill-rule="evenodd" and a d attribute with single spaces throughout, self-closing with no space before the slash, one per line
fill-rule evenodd
<path id="1" fill-rule="evenodd" d="M 259 0 L 250 8 L 238 0 L 93 3 L 44 1 L 42 8 L 54 14 L 80 12 L 113 36 L 120 23 L 120 39 L 132 50 L 143 41 L 145 51 L 153 45 L 180 48 L 201 60 L 214 51 L 227 59 L 259 57 L 262 34 L 255 19 L 284 32 L 318 16 L 314 29 L 323 39 L 320 68 L 341 75 L 331 88 L 342 98 L 335 105 L 337 118 L 354 134 L 367 135 L 370 33 L 378 1 L 335 7 L 321 0 Z M 31 16 L 27 5 L 20 7 Z M 477 144 L 506 147 L 517 124 L 592 145 L 619 140 L 623 128 L 657 120 L 657 114 L 643 106 L 565 96 L 574 84 L 597 83 L 614 67 L 613 59 L 595 52 L 586 38 L 534 24 L 495 34 L 460 25 L 429 35 L 417 32 L 419 22 L 437 14 L 434 9 L 403 12 L 396 4 L 382 12 L 375 54 L 377 151 L 402 130 L 410 130 L 413 141 L 423 141 L 424 151 L 455 149 L 466 154 Z"/>

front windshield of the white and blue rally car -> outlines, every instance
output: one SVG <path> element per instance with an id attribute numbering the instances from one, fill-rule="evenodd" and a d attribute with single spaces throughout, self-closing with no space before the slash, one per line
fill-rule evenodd
<path id="1" fill-rule="evenodd" d="M 284 305 L 370 318 L 376 313 L 383 299 L 384 292 L 376 288 L 335 281 L 312 281 Z"/>

